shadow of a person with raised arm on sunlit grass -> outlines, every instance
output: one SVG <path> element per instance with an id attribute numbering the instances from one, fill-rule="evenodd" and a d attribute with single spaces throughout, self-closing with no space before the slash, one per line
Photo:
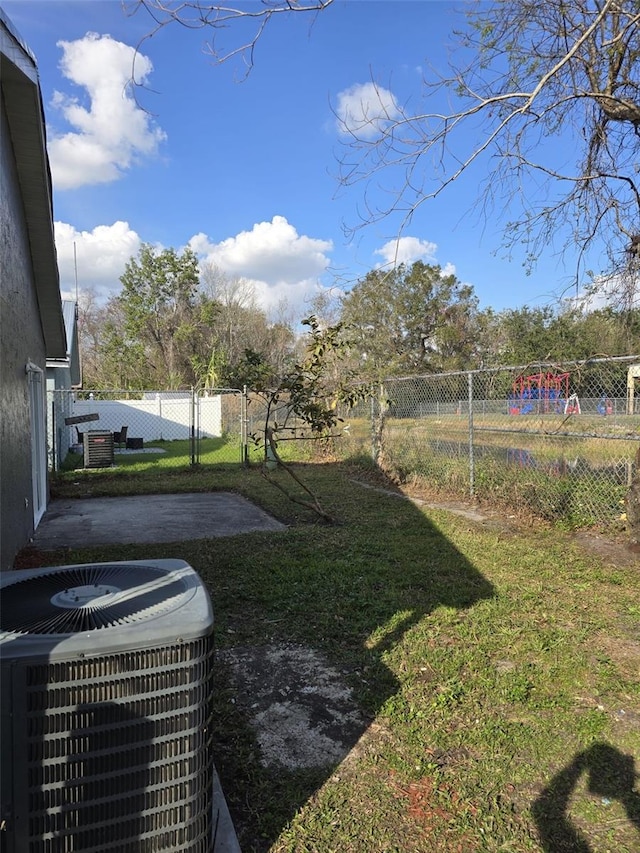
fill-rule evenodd
<path id="1" fill-rule="evenodd" d="M 542 791 L 532 812 L 545 853 L 592 853 L 568 814 L 571 796 L 580 777 L 587 775 L 587 790 L 605 802 L 617 800 L 638 831 L 640 846 L 640 794 L 634 790 L 634 759 L 608 743 L 595 743 L 578 753 Z"/>

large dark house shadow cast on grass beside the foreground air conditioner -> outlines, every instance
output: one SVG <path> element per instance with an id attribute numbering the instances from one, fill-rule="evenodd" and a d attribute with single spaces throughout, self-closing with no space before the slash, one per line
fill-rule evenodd
<path id="1" fill-rule="evenodd" d="M 324 467 L 323 497 L 333 489 L 328 500 L 340 525 L 314 525 L 312 536 L 296 528 L 255 539 L 242 554 L 225 548 L 213 573 L 201 569 L 224 647 L 216 764 L 244 853 L 270 849 L 399 692 L 385 661 L 407 632 L 436 608 L 463 612 L 494 595 L 491 583 L 427 516 L 392 496 L 400 492 L 391 482 L 381 484 L 392 493 L 385 495 Z M 301 658 L 313 659 L 306 670 L 297 665 Z M 353 687 L 355 713 L 344 695 L 333 701 L 338 675 Z M 305 734 L 297 728 L 305 709 L 316 761 L 303 756 L 296 766 L 289 757 L 302 751 Z M 273 737 L 265 736 L 264 726 L 272 736 L 283 722 L 290 742 L 286 734 L 279 737 L 278 761 L 267 754 Z"/>

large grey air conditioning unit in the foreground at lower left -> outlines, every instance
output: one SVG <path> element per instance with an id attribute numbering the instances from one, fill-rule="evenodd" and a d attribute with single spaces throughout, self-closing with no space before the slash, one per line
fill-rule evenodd
<path id="1" fill-rule="evenodd" d="M 213 613 L 181 560 L 0 575 L 4 853 L 211 853 Z"/>

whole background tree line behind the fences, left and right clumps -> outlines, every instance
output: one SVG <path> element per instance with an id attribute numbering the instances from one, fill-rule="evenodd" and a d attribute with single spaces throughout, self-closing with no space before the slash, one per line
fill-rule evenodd
<path id="1" fill-rule="evenodd" d="M 299 358 L 297 318 L 274 320 L 250 282 L 199 266 L 189 248 L 141 247 L 105 305 L 80 301 L 83 384 L 96 389 L 212 389 L 252 383 L 256 366 L 277 381 Z M 372 270 L 335 304 L 318 300 L 325 326 L 348 340 L 338 380 L 571 361 L 640 352 L 640 310 L 480 309 L 471 285 L 416 261 Z"/>

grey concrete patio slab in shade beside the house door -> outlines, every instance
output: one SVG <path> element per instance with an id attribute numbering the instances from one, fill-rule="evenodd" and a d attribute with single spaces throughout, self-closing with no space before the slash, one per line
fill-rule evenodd
<path id="1" fill-rule="evenodd" d="M 184 542 L 286 526 L 231 492 L 54 500 L 33 537 L 42 550 Z"/>

